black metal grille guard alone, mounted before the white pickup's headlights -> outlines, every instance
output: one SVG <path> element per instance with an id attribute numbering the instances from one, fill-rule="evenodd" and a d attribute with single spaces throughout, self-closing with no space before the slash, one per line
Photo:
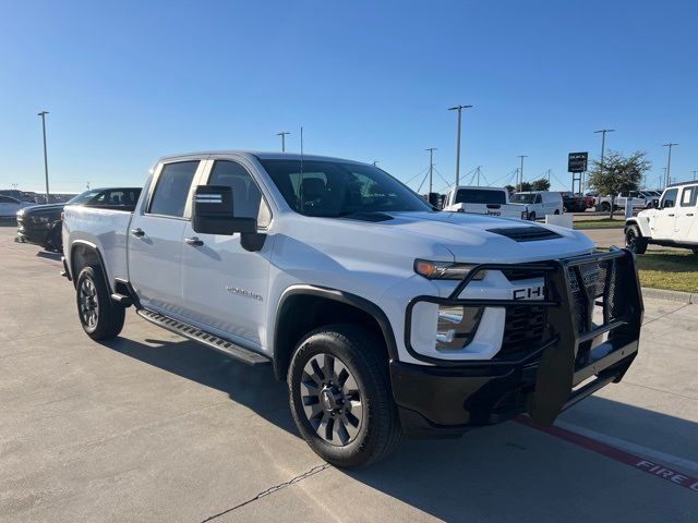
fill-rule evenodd
<path id="1" fill-rule="evenodd" d="M 545 279 L 542 300 L 459 299 L 483 270 L 530 272 Z M 424 356 L 411 346 L 412 311 L 419 302 L 445 306 L 547 308 L 543 341 L 519 358 L 450 361 Z M 593 313 L 602 315 L 594 321 Z M 472 268 L 448 297 L 417 296 L 407 306 L 405 345 L 416 358 L 440 367 L 485 369 L 533 366 L 535 389 L 527 411 L 540 425 L 552 424 L 565 409 L 618 382 L 637 355 L 643 304 L 634 255 L 609 252 L 531 264 L 481 264 Z M 600 319 L 600 318 L 597 318 Z M 594 378 L 590 380 L 589 378 Z M 581 385 L 583 381 L 583 385 Z"/>

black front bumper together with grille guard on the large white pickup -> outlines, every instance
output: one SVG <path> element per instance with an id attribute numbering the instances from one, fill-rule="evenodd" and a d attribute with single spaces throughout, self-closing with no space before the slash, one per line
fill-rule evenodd
<path id="1" fill-rule="evenodd" d="M 458 299 L 479 270 L 507 268 L 513 267 L 482 265 L 448 299 L 414 299 L 408 306 L 407 319 L 419 301 L 473 307 L 544 304 L 544 339 L 524 353 L 490 361 L 429 358 L 431 365 L 390 362 L 393 396 L 407 436 L 458 436 L 471 427 L 500 423 L 521 413 L 528 413 L 540 425 L 550 425 L 565 409 L 605 385 L 619 381 L 633 363 L 643 307 L 631 253 L 614 248 L 516 266 L 516 270 L 545 275 L 543 302 Z M 407 336 L 406 342 L 409 343 Z"/>

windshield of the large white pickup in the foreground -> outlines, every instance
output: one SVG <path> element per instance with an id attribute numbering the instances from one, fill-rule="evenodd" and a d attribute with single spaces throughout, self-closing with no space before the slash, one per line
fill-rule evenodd
<path id="1" fill-rule="evenodd" d="M 373 166 L 341 161 L 261 160 L 286 203 L 305 216 L 418 211 L 432 207 Z"/>

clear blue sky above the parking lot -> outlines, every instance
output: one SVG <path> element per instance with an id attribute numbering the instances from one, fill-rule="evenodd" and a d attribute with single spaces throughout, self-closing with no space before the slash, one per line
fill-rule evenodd
<path id="1" fill-rule="evenodd" d="M 279 149 L 380 167 L 407 181 L 429 163 L 503 184 L 567 153 L 646 150 L 648 184 L 698 169 L 696 1 L 0 0 L 0 187 L 141 185 L 159 156 Z M 466 179 L 468 181 L 468 179 Z M 564 183 L 564 185 L 563 185 Z M 411 186 L 417 187 L 416 183 Z M 436 190 L 443 183 L 436 178 Z"/>

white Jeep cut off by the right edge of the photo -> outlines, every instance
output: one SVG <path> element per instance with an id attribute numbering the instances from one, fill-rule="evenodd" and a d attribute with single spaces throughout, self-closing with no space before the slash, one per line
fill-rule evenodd
<path id="1" fill-rule="evenodd" d="M 625 221 L 625 244 L 643 254 L 649 244 L 690 248 L 698 254 L 698 182 L 664 190 L 659 206 Z"/>

